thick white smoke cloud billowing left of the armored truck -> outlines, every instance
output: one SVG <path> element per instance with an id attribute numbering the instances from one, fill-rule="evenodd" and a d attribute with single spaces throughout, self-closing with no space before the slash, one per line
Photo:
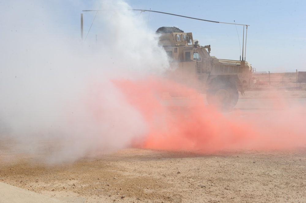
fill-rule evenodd
<path id="1" fill-rule="evenodd" d="M 1 4 L 2 137 L 23 143 L 19 150 L 51 151 L 46 161 L 59 162 L 127 147 L 144 135 L 141 114 L 111 79 L 161 74 L 168 61 L 157 36 L 127 3 L 99 2 L 95 9 L 117 10 L 97 14 L 97 43 L 71 37 L 66 25 L 52 20 L 62 9 L 48 2 Z"/>

